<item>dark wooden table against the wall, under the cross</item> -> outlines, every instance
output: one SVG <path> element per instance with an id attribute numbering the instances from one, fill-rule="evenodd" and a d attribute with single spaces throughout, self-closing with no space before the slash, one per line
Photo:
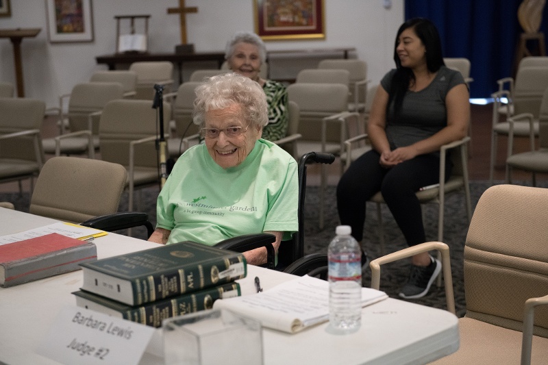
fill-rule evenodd
<path id="1" fill-rule="evenodd" d="M 116 53 L 113 55 L 98 55 L 98 64 L 107 64 L 109 70 L 115 70 L 117 64 L 132 64 L 133 62 L 169 61 L 179 68 L 179 84 L 183 82 L 184 62 L 216 61 L 218 68 L 225 62 L 225 52 L 194 52 L 194 53 Z"/>

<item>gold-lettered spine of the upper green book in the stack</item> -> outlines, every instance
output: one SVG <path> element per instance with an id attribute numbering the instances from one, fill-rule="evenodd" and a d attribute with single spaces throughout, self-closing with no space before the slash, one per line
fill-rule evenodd
<path id="1" fill-rule="evenodd" d="M 220 258 L 192 268 L 179 268 L 161 275 L 148 275 L 132 281 L 134 303 L 141 305 L 178 294 L 227 284 L 245 277 L 245 259 L 241 254 Z"/>

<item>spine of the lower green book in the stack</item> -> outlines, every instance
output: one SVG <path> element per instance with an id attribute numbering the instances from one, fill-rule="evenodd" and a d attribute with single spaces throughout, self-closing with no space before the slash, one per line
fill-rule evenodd
<path id="1" fill-rule="evenodd" d="M 239 295 L 240 284 L 224 284 L 159 303 L 149 303 L 140 307 L 134 307 L 131 310 L 123 312 L 122 315 L 123 318 L 132 320 L 133 322 L 151 327 L 161 327 L 162 320 L 165 318 L 208 310 L 213 307 L 213 303 L 217 299 L 238 297 Z"/>

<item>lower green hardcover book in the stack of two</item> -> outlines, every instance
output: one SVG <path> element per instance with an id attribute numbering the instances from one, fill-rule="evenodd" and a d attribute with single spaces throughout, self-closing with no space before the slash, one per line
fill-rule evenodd
<path id="1" fill-rule="evenodd" d="M 151 327 L 161 327 L 162 320 L 165 318 L 209 310 L 217 299 L 238 297 L 241 292 L 240 284 L 229 283 L 136 306 L 125 305 L 84 290 L 73 292 L 73 294 L 76 296 L 76 305 L 79 307 Z"/>

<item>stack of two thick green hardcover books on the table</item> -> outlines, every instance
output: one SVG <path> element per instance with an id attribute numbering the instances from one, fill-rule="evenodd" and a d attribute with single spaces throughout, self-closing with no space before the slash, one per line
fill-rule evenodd
<path id="1" fill-rule="evenodd" d="M 179 242 L 81 265 L 84 284 L 73 292 L 90 310 L 161 327 L 164 318 L 210 309 L 240 296 L 247 275 L 242 253 Z"/>

